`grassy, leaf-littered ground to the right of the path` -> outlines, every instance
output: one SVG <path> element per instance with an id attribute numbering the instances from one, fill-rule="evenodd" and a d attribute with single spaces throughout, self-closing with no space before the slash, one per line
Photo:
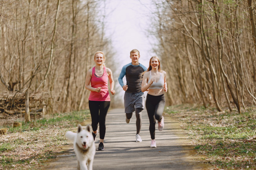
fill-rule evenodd
<path id="1" fill-rule="evenodd" d="M 207 155 L 216 169 L 256 169 L 255 111 L 244 113 L 214 108 L 179 105 L 166 107 L 166 113 L 182 121 L 195 150 Z"/>

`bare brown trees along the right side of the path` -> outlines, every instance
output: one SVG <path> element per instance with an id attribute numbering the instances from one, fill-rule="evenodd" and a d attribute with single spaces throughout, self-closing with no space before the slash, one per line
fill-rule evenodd
<path id="1" fill-rule="evenodd" d="M 255 1 L 155 3 L 155 51 L 168 72 L 169 104 L 218 111 L 255 107 Z M 174 99 L 175 98 L 175 99 Z"/>

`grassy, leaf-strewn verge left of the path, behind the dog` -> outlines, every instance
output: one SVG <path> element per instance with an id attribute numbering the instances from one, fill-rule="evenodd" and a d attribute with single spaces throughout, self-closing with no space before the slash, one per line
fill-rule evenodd
<path id="1" fill-rule="evenodd" d="M 22 126 L 7 128 L 0 136 L 0 170 L 34 170 L 67 144 L 65 133 L 90 123 L 89 110 L 56 114 Z"/>

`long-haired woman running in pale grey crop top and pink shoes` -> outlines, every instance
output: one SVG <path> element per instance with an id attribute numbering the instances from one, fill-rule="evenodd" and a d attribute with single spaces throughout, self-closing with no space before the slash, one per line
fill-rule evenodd
<path id="1" fill-rule="evenodd" d="M 141 91 L 148 91 L 146 98 L 146 110 L 149 119 L 149 132 L 151 137 L 151 148 L 156 148 L 155 123 L 158 121 L 158 130 L 164 128 L 164 117 L 162 116 L 165 106 L 164 92 L 167 92 L 166 72 L 160 69 L 160 61 L 157 56 L 149 60 L 148 70 L 144 72 Z"/>

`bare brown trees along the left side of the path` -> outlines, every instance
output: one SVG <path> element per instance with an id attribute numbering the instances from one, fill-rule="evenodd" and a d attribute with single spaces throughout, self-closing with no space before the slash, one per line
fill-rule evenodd
<path id="1" fill-rule="evenodd" d="M 96 51 L 111 63 L 114 50 L 104 33 L 103 0 L 0 1 L 0 110 L 47 113 L 87 107 L 85 75 Z"/>

